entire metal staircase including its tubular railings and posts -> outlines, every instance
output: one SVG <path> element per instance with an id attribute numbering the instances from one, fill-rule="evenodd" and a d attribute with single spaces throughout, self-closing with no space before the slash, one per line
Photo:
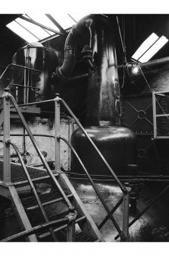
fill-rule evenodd
<path id="1" fill-rule="evenodd" d="M 129 191 L 116 177 L 116 174 L 113 173 L 113 170 L 110 168 L 109 164 L 107 164 L 107 161 L 104 159 L 93 141 L 91 141 L 91 138 L 88 137 L 85 129 L 78 122 L 78 119 L 69 109 L 69 106 L 66 105 L 59 96 L 56 96 L 53 100 L 40 102 L 40 104 L 50 101 L 55 102 L 55 170 L 52 171 L 46 163 L 40 148 L 37 146 L 37 142 L 33 138 L 33 134 L 31 133 L 20 109 L 20 107 L 23 107 L 24 105 L 34 105 L 35 102 L 18 106 L 8 89 L 5 89 L 2 99 L 3 110 L 0 115 L 0 125 L 3 123 L 3 134 L 1 134 L 3 135 L 3 140 L 1 142 L 3 142 L 4 145 L 4 160 L 0 161 L 0 196 L 5 197 L 11 202 L 23 230 L 18 234 L 11 235 L 8 238 L 3 238 L 2 241 L 21 241 L 21 239 L 24 238 L 27 241 L 51 241 L 51 239 L 54 241 L 104 241 L 99 228 L 107 222 L 107 219 L 111 219 L 115 225 L 121 241 L 127 241 L 129 238 Z M 81 163 L 75 149 L 71 144 L 69 144 L 69 141 L 66 141 L 60 136 L 60 102 L 62 102 L 65 109 L 67 109 L 69 114 L 75 119 L 75 122 L 84 132 L 89 142 L 91 142 L 97 151 L 97 154 L 100 155 L 104 164 L 106 164 L 113 178 L 116 180 L 116 183 L 118 183 L 123 192 L 122 199 L 120 199 L 120 201 L 116 203 L 111 210 L 104 202 L 103 197 L 97 190 L 88 170 L 86 170 L 84 165 Z M 22 159 L 20 152 L 18 151 L 18 147 L 11 142 L 11 108 L 15 109 L 21 118 L 24 128 L 27 131 L 27 135 L 30 137 L 33 146 L 43 163 L 44 169 L 27 167 L 24 164 L 24 160 Z M 76 157 L 78 157 L 88 180 L 94 187 L 104 209 L 107 211 L 106 217 L 100 225 L 98 225 L 98 228 L 91 219 L 91 216 L 88 214 L 83 203 L 81 203 L 81 199 L 72 186 L 72 183 L 70 183 L 69 178 L 60 169 L 61 140 L 65 141 Z M 11 163 L 10 147 L 14 147 L 14 151 L 16 151 L 21 164 Z M 40 188 L 41 186 L 43 186 L 43 189 Z M 23 190 L 30 190 L 30 196 L 22 198 L 20 191 Z M 113 212 L 121 203 L 123 203 L 122 230 L 113 218 Z"/>

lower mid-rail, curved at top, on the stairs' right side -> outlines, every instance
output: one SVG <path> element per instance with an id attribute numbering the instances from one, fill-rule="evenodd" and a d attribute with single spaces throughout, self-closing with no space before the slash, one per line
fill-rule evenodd
<path id="1" fill-rule="evenodd" d="M 126 240 L 126 235 L 124 235 L 124 233 L 121 231 L 119 225 L 117 224 L 116 220 L 113 218 L 112 213 L 110 212 L 110 209 L 108 208 L 107 204 L 104 202 L 103 197 L 100 195 L 100 192 L 97 190 L 97 187 L 94 184 L 94 181 L 91 179 L 90 174 L 88 173 L 88 170 L 86 169 L 85 165 L 83 164 L 83 162 L 81 161 L 81 158 L 78 156 L 77 152 L 75 151 L 75 148 L 72 147 L 72 144 L 69 143 L 69 141 L 67 141 L 65 138 L 63 138 L 62 136 L 59 136 L 59 139 L 61 139 L 62 141 L 65 141 L 65 144 L 67 144 L 71 149 L 73 154 L 75 154 L 75 157 L 77 157 L 79 163 L 81 164 L 81 167 L 83 168 L 83 170 L 85 170 L 85 173 L 88 177 L 88 180 L 90 181 L 91 185 L 93 186 L 95 192 L 97 193 L 98 198 L 100 199 L 100 202 L 103 204 L 104 209 L 107 211 L 109 218 L 112 220 L 113 225 L 116 227 L 117 232 L 119 232 L 120 237 L 123 240 Z M 121 199 L 120 199 L 121 201 Z"/>

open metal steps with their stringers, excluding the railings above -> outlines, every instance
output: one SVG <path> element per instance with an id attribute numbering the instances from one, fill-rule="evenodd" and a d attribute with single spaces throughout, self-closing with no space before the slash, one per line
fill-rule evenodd
<path id="1" fill-rule="evenodd" d="M 1 170 L 2 164 L 3 161 L 0 164 Z M 46 239 L 47 241 L 52 239 L 59 241 L 61 235 L 58 232 L 65 230 L 67 232 L 62 233 L 62 241 L 79 241 L 82 238 L 83 241 L 103 241 L 100 232 L 97 230 L 88 212 L 86 212 L 78 195 L 75 195 L 74 190 L 71 191 L 66 186 L 64 190 L 59 190 L 58 187 L 51 183 L 51 178 L 49 175 L 46 175 L 45 170 L 27 167 L 27 173 L 31 182 L 27 180 L 22 166 L 12 163 L 11 184 L 8 183 L 6 186 L 1 184 L 0 189 L 1 195 L 3 192 L 3 196 L 11 200 L 21 228 L 26 231 L 26 234 L 32 228 L 36 232 L 36 235 L 30 235 L 27 241 L 46 241 Z M 56 180 L 60 179 L 59 173 L 55 173 L 54 176 Z M 65 183 L 66 181 L 65 179 Z M 43 192 L 44 188 L 40 192 L 40 184 L 42 183 L 43 187 L 46 186 L 49 190 L 46 193 Z M 30 184 L 34 191 L 30 196 L 23 198 L 20 196 L 20 191 L 30 190 Z M 67 202 L 62 193 L 65 193 Z M 43 229 L 46 224 L 49 226 L 50 223 L 52 226 L 49 227 L 49 231 L 39 230 L 40 227 Z M 76 223 L 78 223 L 77 234 L 75 232 Z M 12 235 L 10 238 L 5 238 L 2 241 L 18 241 L 19 238 L 24 237 L 21 235 L 26 234 L 21 232 L 21 234 Z"/>

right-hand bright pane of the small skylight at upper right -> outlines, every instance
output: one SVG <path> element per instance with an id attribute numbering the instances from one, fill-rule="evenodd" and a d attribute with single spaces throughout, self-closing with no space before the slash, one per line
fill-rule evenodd
<path id="1" fill-rule="evenodd" d="M 139 59 L 140 62 L 147 62 L 160 50 L 164 44 L 167 44 L 168 39 L 164 36 L 160 37 L 158 41 Z"/>

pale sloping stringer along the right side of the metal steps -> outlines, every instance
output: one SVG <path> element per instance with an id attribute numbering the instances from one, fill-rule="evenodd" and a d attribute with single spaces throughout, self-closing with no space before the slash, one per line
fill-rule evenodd
<path id="1" fill-rule="evenodd" d="M 88 235 L 94 236 L 97 238 L 97 241 L 105 241 L 99 229 L 97 228 L 97 225 L 94 223 L 93 219 L 91 219 L 91 215 L 89 215 L 87 209 L 81 202 L 80 197 L 78 196 L 77 192 L 72 186 L 72 183 L 69 181 L 69 178 L 65 175 L 65 173 L 59 173 L 59 183 L 64 190 L 69 190 L 69 192 L 73 194 L 74 197 L 72 205 L 75 206 L 75 209 L 79 214 L 85 215 L 86 217 L 86 221 L 83 224 L 78 224 L 82 231 Z"/>

